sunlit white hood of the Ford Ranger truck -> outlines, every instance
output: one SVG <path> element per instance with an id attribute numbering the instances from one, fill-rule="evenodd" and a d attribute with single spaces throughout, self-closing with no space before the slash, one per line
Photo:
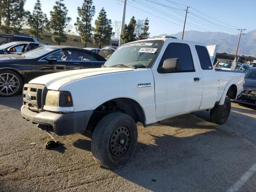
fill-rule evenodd
<path id="1" fill-rule="evenodd" d="M 31 80 L 29 83 L 34 84 L 44 84 L 48 89 L 58 90 L 61 86 L 66 83 L 78 80 L 81 78 L 86 78 L 90 76 L 110 74 L 116 72 L 133 71 L 132 68 L 91 68 L 91 69 L 80 69 L 80 70 L 70 70 L 64 72 L 58 72 L 53 74 L 48 74 L 40 76 Z"/>

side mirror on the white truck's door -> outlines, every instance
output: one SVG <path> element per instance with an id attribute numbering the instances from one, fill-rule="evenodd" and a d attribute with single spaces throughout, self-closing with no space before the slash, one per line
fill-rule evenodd
<path id="1" fill-rule="evenodd" d="M 173 72 L 181 70 L 180 58 L 171 58 L 164 60 L 163 66 L 160 67 L 160 71 L 163 73 Z"/>

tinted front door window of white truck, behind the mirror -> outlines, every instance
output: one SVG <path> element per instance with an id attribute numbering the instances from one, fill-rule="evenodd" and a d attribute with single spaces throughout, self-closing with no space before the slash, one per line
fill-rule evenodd
<path id="1" fill-rule="evenodd" d="M 177 70 L 173 72 L 195 72 L 192 54 L 188 44 L 183 44 L 183 43 L 168 44 L 158 67 L 163 66 L 164 60 L 172 59 L 172 58 L 178 58 L 181 62 L 181 70 Z"/>

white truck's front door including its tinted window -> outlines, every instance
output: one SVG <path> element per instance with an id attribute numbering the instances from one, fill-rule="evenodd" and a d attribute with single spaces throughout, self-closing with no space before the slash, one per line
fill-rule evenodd
<path id="1" fill-rule="evenodd" d="M 202 101 L 202 76 L 190 45 L 170 43 L 159 66 L 169 58 L 179 58 L 182 70 L 154 74 L 156 118 L 196 110 Z"/>

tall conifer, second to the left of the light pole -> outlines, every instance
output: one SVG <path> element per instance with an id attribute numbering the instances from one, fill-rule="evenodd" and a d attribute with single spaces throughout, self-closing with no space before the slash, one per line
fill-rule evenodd
<path id="1" fill-rule="evenodd" d="M 95 14 L 95 6 L 92 6 L 92 0 L 84 0 L 82 7 L 77 8 L 78 16 L 76 18 L 76 30 L 81 36 L 81 42 L 84 43 L 84 47 L 92 37 L 92 17 Z"/>

